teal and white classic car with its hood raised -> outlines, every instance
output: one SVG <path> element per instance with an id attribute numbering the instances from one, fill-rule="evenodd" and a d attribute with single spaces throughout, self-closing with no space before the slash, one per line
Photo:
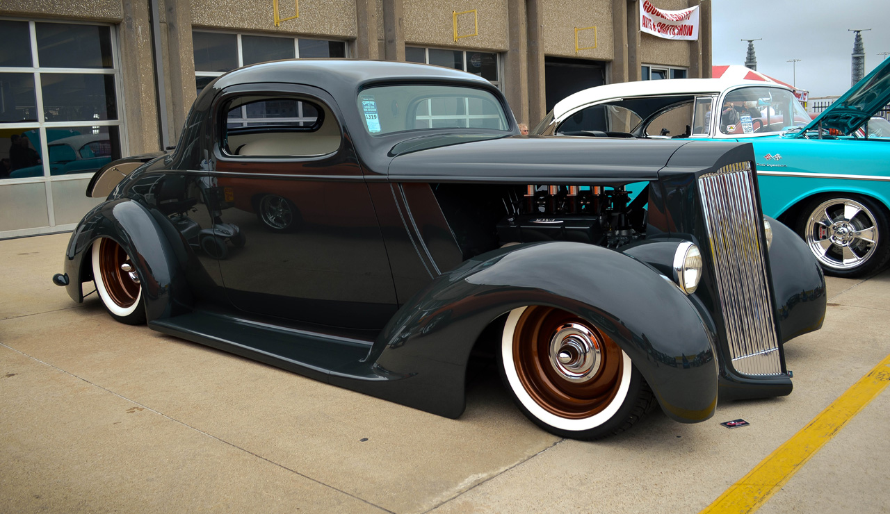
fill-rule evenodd
<path id="1" fill-rule="evenodd" d="M 531 133 L 751 142 L 763 212 L 796 229 L 826 273 L 860 277 L 890 260 L 890 136 L 869 129 L 888 100 L 890 60 L 814 119 L 781 84 L 609 84 L 560 101 Z"/>

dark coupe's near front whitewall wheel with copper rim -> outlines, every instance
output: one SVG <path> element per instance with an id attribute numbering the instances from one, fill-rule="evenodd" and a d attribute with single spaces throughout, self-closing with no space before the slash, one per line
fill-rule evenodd
<path id="1" fill-rule="evenodd" d="M 615 341 L 561 309 L 511 311 L 500 362 L 507 389 L 522 413 L 563 438 L 617 434 L 655 406 L 643 376 Z"/>

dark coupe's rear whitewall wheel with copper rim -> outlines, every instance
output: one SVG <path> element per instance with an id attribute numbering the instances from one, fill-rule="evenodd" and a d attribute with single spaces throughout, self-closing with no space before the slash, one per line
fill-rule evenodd
<path id="1" fill-rule="evenodd" d="M 127 325 L 145 323 L 142 282 L 134 261 L 123 246 L 107 237 L 93 243 L 93 281 L 111 317 Z"/>

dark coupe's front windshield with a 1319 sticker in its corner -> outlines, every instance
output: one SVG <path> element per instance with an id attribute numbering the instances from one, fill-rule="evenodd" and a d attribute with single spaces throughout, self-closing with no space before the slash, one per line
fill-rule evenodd
<path id="1" fill-rule="evenodd" d="M 455 85 L 411 84 L 370 87 L 358 107 L 371 135 L 438 128 L 508 132 L 510 124 L 490 92 Z"/>

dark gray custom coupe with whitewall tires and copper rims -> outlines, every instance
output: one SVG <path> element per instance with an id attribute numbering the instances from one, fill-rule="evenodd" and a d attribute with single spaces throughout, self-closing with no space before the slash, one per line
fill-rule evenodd
<path id="1" fill-rule="evenodd" d="M 171 155 L 96 174 L 108 198 L 53 280 L 78 302 L 93 282 L 124 323 L 443 416 L 488 352 L 562 437 L 656 404 L 700 422 L 718 390 L 789 394 L 782 343 L 825 314 L 753 162 L 747 143 L 521 136 L 496 87 L 447 68 L 258 64 L 206 86 Z"/>

